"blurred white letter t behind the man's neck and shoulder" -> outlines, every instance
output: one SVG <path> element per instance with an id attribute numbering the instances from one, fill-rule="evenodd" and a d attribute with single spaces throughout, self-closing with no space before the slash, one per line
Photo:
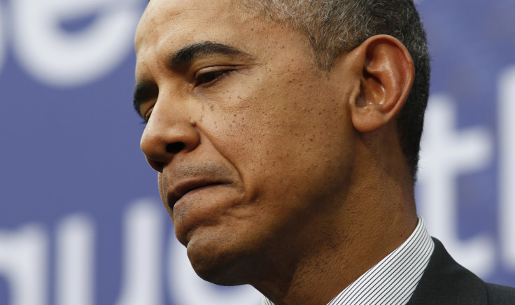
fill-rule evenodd
<path id="1" fill-rule="evenodd" d="M 488 276 L 493 271 L 495 245 L 486 234 L 460 241 L 456 178 L 488 166 L 491 136 L 481 127 L 456 132 L 456 110 L 448 97 L 434 96 L 429 105 L 419 174 L 421 215 L 429 232 L 442 240 L 458 262 L 479 276 Z"/>

